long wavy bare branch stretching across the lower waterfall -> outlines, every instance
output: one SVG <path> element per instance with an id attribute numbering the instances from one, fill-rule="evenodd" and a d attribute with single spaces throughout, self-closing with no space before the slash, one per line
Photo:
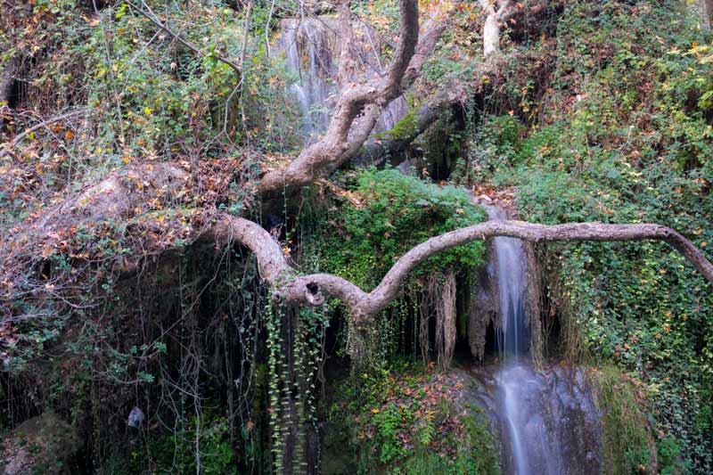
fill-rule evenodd
<path id="1" fill-rule="evenodd" d="M 571 225 L 537 225 L 523 221 L 488 221 L 450 233 L 430 238 L 406 252 L 397 260 L 381 283 L 371 292 L 359 289 L 339 276 L 310 274 L 297 276 L 288 265 L 279 244 L 258 224 L 241 217 L 225 217 L 214 229 L 222 239 L 242 242 L 258 258 L 260 273 L 272 286 L 275 295 L 296 305 L 318 305 L 324 301 L 323 292 L 344 302 L 356 322 L 370 320 L 384 307 L 397 299 L 402 285 L 416 266 L 427 258 L 473 241 L 496 236 L 509 236 L 529 242 L 555 241 L 663 241 L 687 258 L 693 266 L 713 283 L 713 264 L 692 242 L 662 225 L 606 225 L 601 223 L 578 223 Z"/>

